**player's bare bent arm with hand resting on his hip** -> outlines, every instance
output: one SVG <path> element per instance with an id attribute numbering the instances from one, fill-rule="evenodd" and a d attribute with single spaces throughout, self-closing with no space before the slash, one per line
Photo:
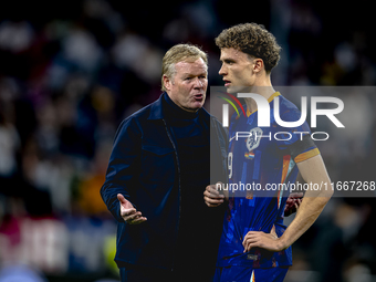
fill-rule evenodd
<path id="1" fill-rule="evenodd" d="M 253 247 L 260 247 L 270 251 L 281 251 L 289 248 L 313 224 L 332 197 L 331 180 L 321 155 L 316 155 L 296 165 L 304 181 L 312 184 L 312 187 L 316 184 L 315 187 L 318 189 L 309 189 L 305 192 L 295 219 L 280 238 L 271 238 L 268 233 L 259 231 L 248 232 L 243 240 L 244 252 Z"/>

